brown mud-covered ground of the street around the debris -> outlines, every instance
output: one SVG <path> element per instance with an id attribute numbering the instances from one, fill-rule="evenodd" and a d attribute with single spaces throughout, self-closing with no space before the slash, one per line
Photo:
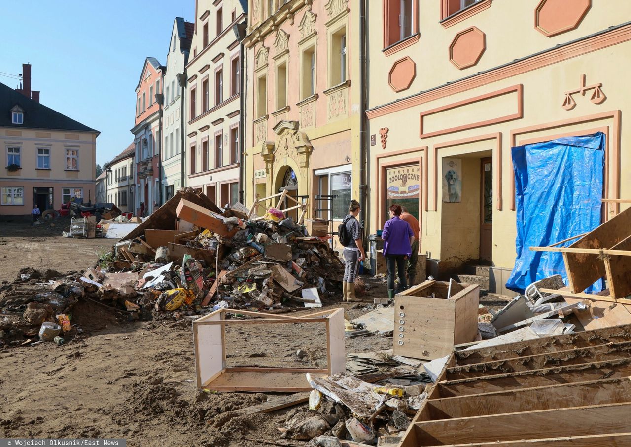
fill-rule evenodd
<path id="1" fill-rule="evenodd" d="M 66 239 L 59 226 L 0 223 L 0 280 L 21 267 L 64 273 L 92 266 L 107 239 Z M 3 242 L 0 242 L 2 244 Z M 4 258 L 4 256 L 7 256 Z M 382 297 L 375 288 L 366 302 Z M 341 297 L 334 297 L 341 300 Z M 367 309 L 351 309 L 357 318 Z M 309 311 L 302 311 L 309 313 Z M 292 314 L 292 316 L 298 314 Z M 0 318 L 3 318 L 0 315 Z M 80 301 L 73 322 L 83 332 L 66 345 L 42 343 L 0 350 L 0 437 L 126 438 L 129 446 L 302 446 L 280 438 L 277 427 L 302 404 L 270 414 L 235 410 L 265 402 L 275 393 L 206 393 L 196 387 L 191 323 L 187 320 L 129 322 L 91 302 Z M 227 332 L 228 364 L 322 366 L 322 333 L 307 325 L 252 325 Z M 346 352 L 389 349 L 392 338 L 346 340 Z M 297 349 L 307 350 L 298 359 Z"/>

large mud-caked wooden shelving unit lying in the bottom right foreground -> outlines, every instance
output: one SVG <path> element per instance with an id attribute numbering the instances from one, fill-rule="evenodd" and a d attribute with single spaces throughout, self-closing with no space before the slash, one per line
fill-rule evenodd
<path id="1" fill-rule="evenodd" d="M 630 331 L 456 352 L 398 447 L 631 445 Z"/>

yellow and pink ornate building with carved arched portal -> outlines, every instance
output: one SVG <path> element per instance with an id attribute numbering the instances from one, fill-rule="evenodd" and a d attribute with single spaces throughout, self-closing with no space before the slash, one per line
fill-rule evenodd
<path id="1" fill-rule="evenodd" d="M 357 4 L 250 1 L 245 203 L 286 190 L 339 220 L 359 198 Z"/>

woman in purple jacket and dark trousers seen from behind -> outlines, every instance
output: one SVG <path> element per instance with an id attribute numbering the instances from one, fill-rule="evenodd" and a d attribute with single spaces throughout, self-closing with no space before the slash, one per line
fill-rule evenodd
<path id="1" fill-rule="evenodd" d="M 381 239 L 384 240 L 384 256 L 386 256 L 386 266 L 388 269 L 388 297 L 394 298 L 394 268 L 399 271 L 399 290 L 408 288 L 405 279 L 405 268 L 408 258 L 412 254 L 412 242 L 414 242 L 414 232 L 410 228 L 410 223 L 401 216 L 401 206 L 392 205 L 390 207 L 390 218 L 384 225 Z"/>

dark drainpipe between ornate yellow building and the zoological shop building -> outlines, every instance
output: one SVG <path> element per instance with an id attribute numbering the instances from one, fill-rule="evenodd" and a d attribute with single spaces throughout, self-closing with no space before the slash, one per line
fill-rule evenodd
<path id="1" fill-rule="evenodd" d="M 369 213 L 366 206 L 366 3 L 368 0 L 360 0 L 359 2 L 359 46 L 360 46 L 360 65 L 359 65 L 359 88 L 360 88 L 360 121 L 359 121 L 359 198 L 360 207 L 363 211 L 363 237 L 366 237 L 366 222 Z"/>

